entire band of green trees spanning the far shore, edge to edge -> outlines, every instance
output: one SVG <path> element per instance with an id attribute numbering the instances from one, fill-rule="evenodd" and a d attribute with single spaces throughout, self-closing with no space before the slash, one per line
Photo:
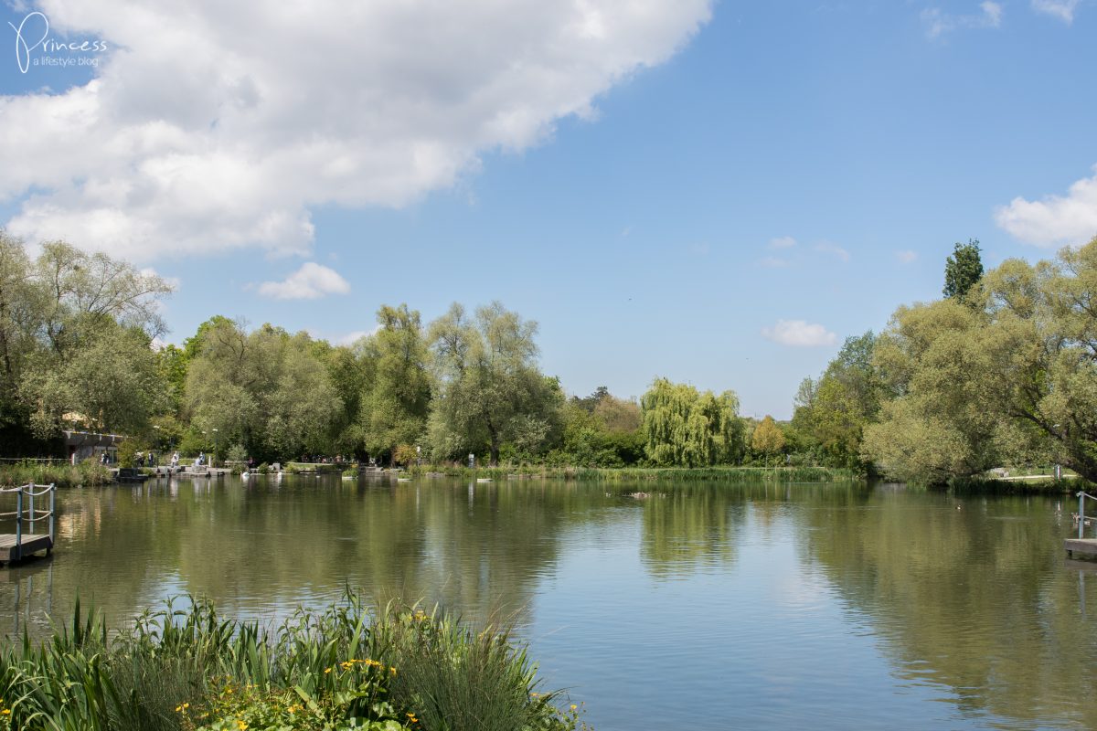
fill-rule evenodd
<path id="1" fill-rule="evenodd" d="M 901 306 L 800 385 L 791 421 L 739 414 L 734 391 L 656 378 L 638 400 L 579 397 L 541 372 L 536 323 L 499 302 L 423 323 L 382 306 L 333 345 L 215 316 L 165 333 L 165 279 L 0 233 L 0 450 L 59 452 L 63 429 L 140 448 L 285 461 L 618 467 L 822 465 L 940 483 L 1062 464 L 1097 481 L 1097 239 L 984 272 L 957 243 L 939 300 Z"/>

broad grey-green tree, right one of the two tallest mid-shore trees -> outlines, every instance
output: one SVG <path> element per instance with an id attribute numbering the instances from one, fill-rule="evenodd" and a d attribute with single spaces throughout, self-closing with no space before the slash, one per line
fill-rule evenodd
<path id="1" fill-rule="evenodd" d="M 431 323 L 437 396 L 429 438 L 436 456 L 487 446 L 497 465 L 504 444 L 534 454 L 558 431 L 563 393 L 538 368 L 536 330 L 498 301 L 477 308 L 472 319 L 454 302 Z"/>

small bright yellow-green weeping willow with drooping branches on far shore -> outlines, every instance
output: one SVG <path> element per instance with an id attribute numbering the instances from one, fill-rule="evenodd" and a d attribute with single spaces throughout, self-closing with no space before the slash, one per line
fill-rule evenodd
<path id="1" fill-rule="evenodd" d="M 644 450 L 656 465 L 701 467 L 736 461 L 743 449 L 739 400 L 656 378 L 640 400 Z"/>

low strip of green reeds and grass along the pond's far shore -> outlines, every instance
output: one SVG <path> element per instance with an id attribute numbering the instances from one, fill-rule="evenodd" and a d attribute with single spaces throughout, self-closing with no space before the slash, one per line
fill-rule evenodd
<path id="1" fill-rule="evenodd" d="M 509 479 L 548 479 L 548 480 L 591 480 L 603 482 L 635 481 L 675 481 L 675 482 L 847 482 L 859 479 L 852 470 L 830 467 L 698 467 L 698 468 L 659 468 L 659 467 L 455 467 L 452 465 L 433 465 L 411 467 L 408 472 L 415 476 L 455 477 L 464 480 L 489 478 L 491 480 Z"/>

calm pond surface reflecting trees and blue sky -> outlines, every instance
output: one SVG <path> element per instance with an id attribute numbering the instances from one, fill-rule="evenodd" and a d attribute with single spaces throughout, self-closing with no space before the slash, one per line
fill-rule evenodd
<path id="1" fill-rule="evenodd" d="M 514 617 L 599 731 L 1097 728 L 1097 573 L 1055 499 L 297 477 L 58 502 L 53 560 L 0 569 L 2 631 L 77 594 L 275 620 L 350 583 Z"/>

